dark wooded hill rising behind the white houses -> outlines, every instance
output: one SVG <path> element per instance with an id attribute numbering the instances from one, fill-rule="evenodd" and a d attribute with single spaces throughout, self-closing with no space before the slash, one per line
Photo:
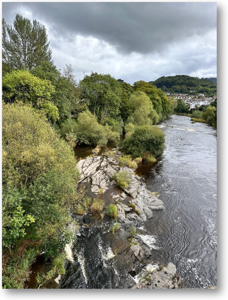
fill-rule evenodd
<path id="1" fill-rule="evenodd" d="M 217 93 L 217 84 L 212 82 L 212 78 L 199 78 L 188 75 L 161 76 L 149 83 L 155 85 L 157 88 L 161 88 L 164 92 L 188 93 L 193 95 L 197 93 L 215 95 Z"/>

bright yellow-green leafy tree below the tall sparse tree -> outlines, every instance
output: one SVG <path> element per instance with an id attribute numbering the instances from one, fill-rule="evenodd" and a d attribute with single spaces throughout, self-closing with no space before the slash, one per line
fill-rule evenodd
<path id="1" fill-rule="evenodd" d="M 6 73 L 2 78 L 2 99 L 6 103 L 32 104 L 44 110 L 52 122 L 59 119 L 58 108 L 51 101 L 54 92 L 54 86 L 49 80 L 42 80 L 25 70 Z"/>

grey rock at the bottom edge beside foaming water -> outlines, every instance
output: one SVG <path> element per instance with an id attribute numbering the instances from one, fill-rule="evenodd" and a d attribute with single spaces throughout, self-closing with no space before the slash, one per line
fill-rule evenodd
<path id="1" fill-rule="evenodd" d="M 132 289 L 182 289 L 182 279 L 175 265 L 169 262 L 161 270 L 154 270 L 147 274 Z"/>

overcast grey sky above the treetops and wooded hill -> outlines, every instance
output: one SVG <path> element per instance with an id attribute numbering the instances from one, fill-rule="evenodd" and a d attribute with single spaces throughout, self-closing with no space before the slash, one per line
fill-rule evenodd
<path id="1" fill-rule="evenodd" d="M 217 76 L 215 2 L 3 2 L 7 23 L 16 13 L 46 26 L 56 66 L 71 63 L 77 81 Z"/>

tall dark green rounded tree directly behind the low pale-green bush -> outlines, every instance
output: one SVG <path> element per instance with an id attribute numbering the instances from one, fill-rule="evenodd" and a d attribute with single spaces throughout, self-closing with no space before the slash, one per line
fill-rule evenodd
<path id="1" fill-rule="evenodd" d="M 84 99 L 89 111 L 93 113 L 100 124 L 117 125 L 115 119 L 119 115 L 120 85 L 109 74 L 91 72 L 80 82 L 81 99 Z"/>

